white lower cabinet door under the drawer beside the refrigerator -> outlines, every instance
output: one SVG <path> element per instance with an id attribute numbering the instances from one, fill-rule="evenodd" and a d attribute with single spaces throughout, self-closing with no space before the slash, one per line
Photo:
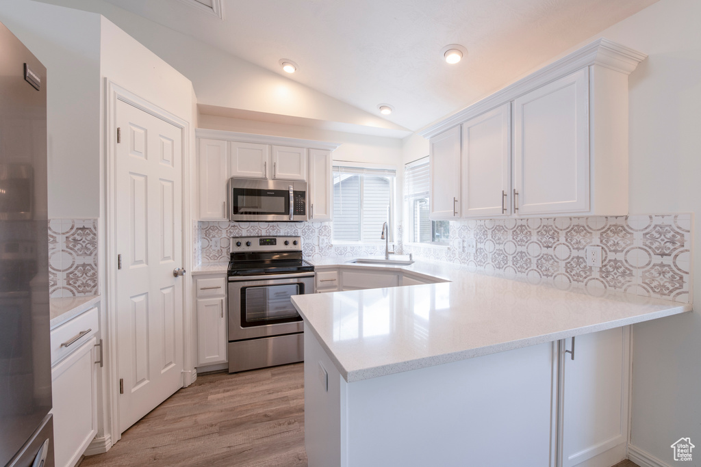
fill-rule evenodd
<path id="1" fill-rule="evenodd" d="M 73 467 L 97 434 L 95 337 L 51 370 L 54 457 L 57 467 Z"/>

